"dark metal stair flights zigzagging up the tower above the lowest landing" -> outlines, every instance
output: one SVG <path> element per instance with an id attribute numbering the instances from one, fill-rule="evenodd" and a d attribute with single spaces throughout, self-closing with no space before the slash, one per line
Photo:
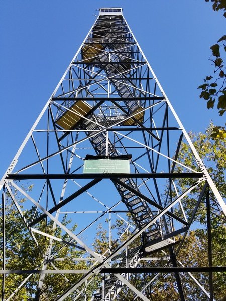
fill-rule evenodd
<path id="1" fill-rule="evenodd" d="M 131 59 L 128 58 L 124 58 L 123 60 L 120 60 L 119 65 L 117 64 L 104 64 L 104 63 L 110 63 L 110 62 L 116 62 L 116 61 L 112 61 L 111 57 L 114 55 L 115 58 L 120 59 L 121 55 L 124 53 L 123 49 L 124 47 L 126 47 L 126 44 L 112 44 L 114 43 L 115 39 L 114 36 L 117 35 L 117 31 L 114 32 L 114 27 L 119 27 L 118 24 L 111 25 L 111 29 L 113 30 L 112 32 L 100 32 L 99 28 L 103 25 L 106 25 L 106 22 L 109 23 L 109 20 L 106 19 L 105 17 L 103 18 L 103 21 L 100 20 L 97 22 L 96 24 L 96 30 L 95 28 L 93 29 L 93 36 L 95 36 L 94 34 L 96 32 L 99 32 L 99 35 L 102 35 L 102 39 L 101 41 L 104 43 L 105 47 L 102 45 L 101 50 L 105 50 L 106 48 L 108 48 L 108 51 L 110 51 L 110 55 L 109 54 L 100 54 L 98 55 L 95 59 L 95 64 L 96 66 L 98 66 L 99 68 L 103 69 L 106 73 L 106 75 L 111 78 L 112 76 L 117 76 L 118 78 L 120 78 L 120 82 L 119 81 L 112 81 L 110 79 L 110 82 L 112 83 L 112 85 L 114 85 L 117 94 L 122 98 L 122 101 L 124 102 L 126 108 L 128 109 L 128 113 L 132 114 L 134 111 L 136 111 L 136 109 L 139 108 L 139 103 L 140 101 L 136 101 L 136 100 L 124 100 L 124 98 L 133 98 L 136 97 L 136 94 L 133 93 L 130 88 L 127 86 L 127 78 L 125 76 L 125 74 L 129 73 L 129 70 L 131 68 Z M 118 28 L 118 30 L 122 30 L 122 28 Z M 122 40 L 125 40 L 125 43 L 127 42 L 127 40 L 125 38 L 122 37 L 118 37 L 121 38 Z M 93 38 L 95 39 L 95 43 L 97 42 L 96 39 L 98 38 Z M 91 39 L 92 40 L 92 39 Z M 110 42 L 111 40 L 111 42 Z M 90 39 L 88 40 L 90 41 Z M 98 41 L 100 42 L 100 40 Z M 109 44 L 108 44 L 109 43 Z M 130 51 L 128 51 L 127 53 L 127 57 L 131 57 L 130 55 Z M 83 54 L 84 56 L 84 54 Z M 126 61 L 126 62 L 125 62 Z M 129 63 L 128 63 L 129 61 Z M 98 64 L 98 62 L 100 62 L 100 64 Z M 124 64 L 125 62 L 125 64 Z M 124 73 L 124 76 L 121 73 Z M 114 77 L 113 77 L 114 78 Z M 98 119 L 96 118 L 96 116 L 94 114 L 92 114 L 91 116 L 89 116 L 89 119 L 91 120 L 85 120 L 82 128 L 87 130 L 87 135 L 88 135 L 88 130 L 101 130 L 101 127 L 98 126 L 95 123 L 92 123 L 92 121 L 97 122 Z M 134 123 L 134 122 L 133 122 Z M 112 122 L 111 122 L 112 124 Z M 100 121 L 100 125 L 101 121 Z M 110 125 L 110 123 L 108 123 L 108 125 Z M 90 142 L 93 146 L 93 149 L 95 150 L 96 154 L 101 156 L 101 155 L 105 155 L 107 154 L 108 156 L 117 156 L 117 153 L 114 151 L 114 145 L 108 140 L 108 149 L 106 152 L 106 134 L 104 132 L 101 132 L 97 135 L 95 135 L 93 138 L 90 139 Z M 136 188 L 136 184 L 132 181 L 132 179 L 120 179 L 123 183 L 137 189 L 137 191 L 139 192 L 139 189 Z M 142 227 L 144 226 L 152 217 L 152 212 L 150 210 L 150 208 L 148 207 L 148 205 L 146 204 L 146 202 L 144 200 L 142 200 L 141 198 L 137 197 L 134 193 L 128 191 L 127 189 L 125 189 L 124 187 L 120 186 L 120 185 L 116 185 L 123 202 L 125 203 L 125 205 L 128 208 L 128 211 L 131 213 L 134 222 L 136 223 L 136 225 L 138 227 Z M 147 231 L 149 231 L 149 235 L 146 235 L 145 232 L 145 238 L 147 241 L 150 240 L 150 237 L 152 235 L 150 235 L 150 233 L 152 233 L 152 231 L 150 231 L 150 229 L 148 229 Z M 154 233 L 154 232 L 153 232 Z M 155 229 L 155 236 L 160 238 L 161 234 L 159 230 Z"/>

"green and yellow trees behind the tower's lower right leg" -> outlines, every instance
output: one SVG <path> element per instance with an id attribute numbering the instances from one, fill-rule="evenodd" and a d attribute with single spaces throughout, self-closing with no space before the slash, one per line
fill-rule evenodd
<path id="1" fill-rule="evenodd" d="M 216 131 L 216 127 L 212 124 L 207 129 L 206 133 L 192 134 L 190 138 L 199 153 L 202 161 L 213 179 L 218 191 L 223 198 L 226 198 L 226 141 L 219 137 L 212 138 L 212 132 Z M 178 160 L 186 162 L 191 168 L 197 169 L 197 163 L 193 156 L 188 153 L 188 146 L 182 143 Z M 180 170 L 178 167 L 175 171 Z M 180 191 L 191 185 L 191 179 L 179 179 L 177 187 Z M 194 189 L 184 200 L 183 208 L 186 214 L 190 217 L 193 208 L 196 204 L 198 196 L 203 186 Z M 211 235 L 212 235 L 212 260 L 213 266 L 222 266 L 226 264 L 226 218 L 222 214 L 218 203 L 216 202 L 213 192 L 210 190 L 210 205 L 211 205 Z M 180 213 L 182 215 L 182 213 Z M 186 266 L 194 266 L 198 263 L 199 266 L 208 266 L 208 249 L 207 249 L 207 229 L 206 229 L 206 205 L 202 202 L 195 215 L 195 221 L 200 224 L 200 228 L 190 231 L 185 244 L 179 253 L 180 261 Z M 184 256 L 186 254 L 186 256 Z M 196 274 L 196 278 L 203 283 L 204 287 L 208 288 L 208 277 L 205 274 Z M 222 300 L 224 296 L 224 288 L 226 283 L 226 273 L 213 273 L 214 284 L 214 299 Z M 197 298 L 199 299 L 199 298 Z M 200 297 L 200 300 L 205 300 Z M 195 298 L 194 298 L 195 300 Z"/>

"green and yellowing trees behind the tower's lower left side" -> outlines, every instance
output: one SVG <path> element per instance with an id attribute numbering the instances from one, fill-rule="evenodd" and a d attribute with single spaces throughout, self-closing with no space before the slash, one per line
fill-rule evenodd
<path id="1" fill-rule="evenodd" d="M 12 188 L 13 189 L 13 188 Z M 31 190 L 31 187 L 24 188 L 25 190 Z M 14 196 L 18 201 L 20 208 L 23 210 L 24 216 L 28 221 L 31 220 L 31 217 L 34 212 L 34 208 L 25 209 L 25 199 L 22 199 L 16 190 L 13 190 Z M 42 253 L 39 248 L 34 243 L 34 240 L 25 226 L 20 214 L 18 213 L 17 208 L 15 207 L 11 197 L 7 194 L 6 205 L 5 205 L 5 216 L 6 216 L 6 269 L 42 269 L 44 253 L 49 247 L 50 239 L 37 234 L 35 235 L 38 245 L 40 246 Z M 39 214 L 37 213 L 36 217 Z M 0 221 L 2 223 L 2 210 L 0 211 Z M 62 219 L 63 225 L 68 225 L 70 220 L 65 215 Z M 74 231 L 76 225 L 74 225 L 70 230 Z M 47 232 L 50 235 L 61 238 L 64 241 L 69 241 L 70 237 L 67 233 L 62 233 L 60 227 L 53 228 L 53 221 L 46 223 L 44 219 L 42 222 L 36 225 L 36 229 L 42 232 Z M 2 232 L 1 232 L 2 235 Z M 2 265 L 2 237 L 0 237 L 0 264 Z M 65 245 L 62 248 L 63 244 L 59 241 L 54 241 L 51 254 L 56 252 L 56 255 L 53 257 L 53 260 L 50 260 L 47 263 L 47 269 L 87 269 L 90 264 L 87 264 L 85 261 L 72 261 L 72 258 L 81 257 L 83 251 L 78 251 L 76 248 L 70 245 Z M 55 260 L 56 258 L 56 260 Z M 57 260 L 60 258 L 60 260 Z M 14 290 L 23 282 L 23 280 L 28 275 L 15 275 L 9 274 L 6 275 L 5 282 L 5 299 L 7 299 Z M 75 283 L 81 275 L 79 274 L 47 274 L 45 275 L 44 283 L 42 290 L 39 295 L 39 300 L 55 300 L 63 291 L 71 286 L 72 283 Z M 31 276 L 21 289 L 15 294 L 12 300 L 31 300 L 34 297 L 34 293 L 37 290 L 38 282 L 40 275 L 34 274 Z M 2 279 L 1 279 L 2 281 Z M 1 283 L 0 283 L 1 285 Z M 0 293 L 1 295 L 1 293 Z M 69 298 L 68 300 L 73 300 Z"/>

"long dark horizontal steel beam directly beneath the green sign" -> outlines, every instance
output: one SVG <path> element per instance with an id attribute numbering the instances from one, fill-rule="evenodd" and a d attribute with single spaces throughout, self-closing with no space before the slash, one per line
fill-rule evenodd
<path id="1" fill-rule="evenodd" d="M 203 173 L 140 173 L 140 174 L 9 174 L 8 180 L 26 179 L 164 179 L 164 178 L 201 178 Z"/>

